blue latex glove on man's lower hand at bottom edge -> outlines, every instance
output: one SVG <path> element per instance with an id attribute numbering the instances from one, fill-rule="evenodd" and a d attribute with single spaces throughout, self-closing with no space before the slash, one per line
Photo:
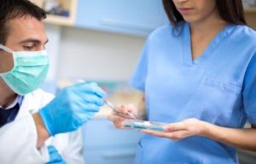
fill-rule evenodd
<path id="1" fill-rule="evenodd" d="M 47 148 L 49 151 L 49 161 L 46 164 L 66 164 L 66 161 L 62 159 L 54 146 L 49 145 Z"/>

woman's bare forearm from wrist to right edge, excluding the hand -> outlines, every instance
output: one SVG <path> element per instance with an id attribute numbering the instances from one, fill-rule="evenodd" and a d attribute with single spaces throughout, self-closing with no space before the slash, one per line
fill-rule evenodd
<path id="1" fill-rule="evenodd" d="M 205 123 L 203 135 L 242 150 L 256 150 L 256 128 L 228 128 Z"/>

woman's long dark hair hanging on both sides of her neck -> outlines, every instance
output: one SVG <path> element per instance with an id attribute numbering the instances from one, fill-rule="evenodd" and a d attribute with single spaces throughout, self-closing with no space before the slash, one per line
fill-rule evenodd
<path id="1" fill-rule="evenodd" d="M 177 26 L 177 22 L 184 20 L 172 0 L 163 0 L 163 5 L 172 25 Z M 216 5 L 223 20 L 236 25 L 247 24 L 241 0 L 216 0 Z"/>

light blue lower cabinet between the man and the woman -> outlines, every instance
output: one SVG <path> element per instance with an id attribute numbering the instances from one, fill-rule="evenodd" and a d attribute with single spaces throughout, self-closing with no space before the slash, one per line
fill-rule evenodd
<path id="1" fill-rule="evenodd" d="M 120 130 L 106 118 L 93 119 L 82 127 L 86 164 L 131 164 L 142 133 Z"/>

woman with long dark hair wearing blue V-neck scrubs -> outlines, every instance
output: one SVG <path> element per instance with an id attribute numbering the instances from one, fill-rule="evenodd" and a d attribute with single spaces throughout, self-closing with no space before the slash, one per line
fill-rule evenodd
<path id="1" fill-rule="evenodd" d="M 236 164 L 236 149 L 256 150 L 256 32 L 241 0 L 163 3 L 172 25 L 148 37 L 131 77 L 146 115 L 129 105 L 119 112 L 169 124 L 142 131 L 135 163 Z M 120 128 L 125 120 L 109 118 Z"/>

